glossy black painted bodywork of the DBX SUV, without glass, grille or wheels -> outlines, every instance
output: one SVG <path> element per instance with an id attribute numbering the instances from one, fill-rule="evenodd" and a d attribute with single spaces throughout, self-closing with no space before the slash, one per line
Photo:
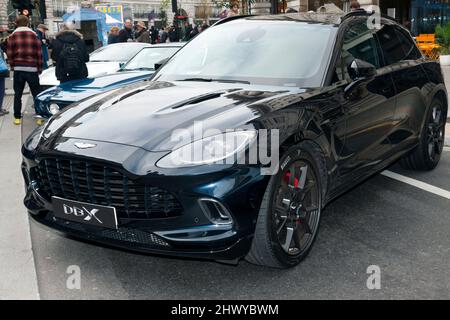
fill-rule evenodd
<path id="1" fill-rule="evenodd" d="M 351 19 L 357 18 L 339 26 L 336 47 Z M 330 57 L 330 70 L 336 54 Z M 281 150 L 312 140 L 325 157 L 326 205 L 414 148 L 433 98 L 447 104 L 439 65 L 423 58 L 379 69 L 374 78 L 362 80 L 351 96 L 348 85 L 346 81 L 331 84 L 330 77 L 324 78 L 321 88 L 304 89 L 153 81 L 87 99 L 54 117 L 44 132 L 45 141 L 36 150 L 22 148 L 28 185 L 25 205 L 31 217 L 42 224 L 98 242 L 170 255 L 240 258 L 250 247 L 269 177 L 261 176 L 259 167 L 250 165 L 159 168 L 157 161 L 173 146 L 170 133 L 174 128 L 189 127 L 193 121 L 207 120 L 209 126 L 219 129 L 280 129 Z M 151 104 L 147 104 L 148 95 L 152 96 Z M 121 108 L 127 111 L 118 117 Z M 80 150 L 74 147 L 76 141 L 95 141 L 98 146 Z M 130 179 L 173 192 L 183 203 L 182 216 L 119 221 L 128 229 L 163 235 L 170 248 L 111 240 L 95 228 L 80 230 L 71 222 L 55 219 L 51 203 L 42 199 L 38 187 L 31 183 L 35 179 L 32 168 L 47 156 L 92 159 L 119 168 Z M 235 223 L 214 230 L 199 208 L 200 197 L 220 200 Z M 190 238 L 183 238 L 189 228 Z M 198 230 L 193 232 L 195 228 Z M 168 237 L 164 232 L 170 231 L 174 234 Z"/>

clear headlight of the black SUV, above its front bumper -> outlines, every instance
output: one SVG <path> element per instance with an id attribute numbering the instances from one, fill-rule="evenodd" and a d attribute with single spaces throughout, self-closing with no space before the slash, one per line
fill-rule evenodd
<path id="1" fill-rule="evenodd" d="M 256 139 L 256 131 L 235 131 L 203 138 L 173 150 L 157 162 L 160 168 L 233 164 Z"/>

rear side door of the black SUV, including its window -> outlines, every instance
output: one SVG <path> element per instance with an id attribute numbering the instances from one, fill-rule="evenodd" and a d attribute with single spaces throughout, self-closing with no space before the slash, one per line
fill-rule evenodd
<path id="1" fill-rule="evenodd" d="M 393 152 L 397 152 L 417 144 L 427 107 L 424 97 L 432 87 L 427 86 L 423 56 L 408 31 L 385 21 L 376 37 L 397 91 L 394 130 L 390 135 Z"/>

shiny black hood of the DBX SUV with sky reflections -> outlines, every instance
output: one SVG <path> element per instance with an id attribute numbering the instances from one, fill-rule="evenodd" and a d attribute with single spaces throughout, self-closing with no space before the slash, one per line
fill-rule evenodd
<path id="1" fill-rule="evenodd" d="M 102 94 L 53 117 L 44 136 L 111 142 L 148 151 L 171 150 L 175 129 L 265 127 L 254 122 L 265 113 L 302 100 L 305 89 L 228 83 L 161 82 Z M 130 89 L 132 88 L 132 89 Z M 280 99 L 290 95 L 289 99 Z M 95 101 L 95 102 L 93 102 Z"/>

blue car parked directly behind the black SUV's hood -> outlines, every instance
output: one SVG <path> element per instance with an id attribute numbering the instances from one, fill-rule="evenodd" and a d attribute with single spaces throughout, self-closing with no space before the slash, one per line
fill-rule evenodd
<path id="1" fill-rule="evenodd" d="M 115 73 L 69 81 L 47 89 L 36 97 L 36 111 L 48 118 L 94 94 L 149 79 L 155 72 L 155 64 L 170 58 L 182 46 L 183 43 L 177 42 L 144 47 Z"/>

